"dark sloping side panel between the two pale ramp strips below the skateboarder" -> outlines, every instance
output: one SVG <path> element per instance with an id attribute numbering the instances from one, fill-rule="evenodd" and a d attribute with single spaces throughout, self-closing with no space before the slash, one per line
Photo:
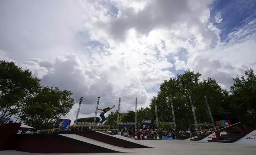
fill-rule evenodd
<path id="1" fill-rule="evenodd" d="M 128 149 L 132 148 L 150 148 L 148 146 L 144 146 L 138 143 L 134 143 L 128 140 L 117 138 L 116 136 L 112 136 L 109 134 L 103 134 L 95 131 L 60 131 L 58 134 L 77 134 L 79 136 L 83 136 L 86 138 L 90 138 L 93 140 L 97 140 L 99 142 L 107 143 L 112 146 L 124 147 Z"/>

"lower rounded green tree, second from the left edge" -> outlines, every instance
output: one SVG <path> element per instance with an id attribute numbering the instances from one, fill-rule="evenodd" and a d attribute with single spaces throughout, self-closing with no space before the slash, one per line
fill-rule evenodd
<path id="1" fill-rule="evenodd" d="M 54 121 L 65 116 L 74 105 L 72 93 L 58 87 L 43 87 L 35 96 L 27 98 L 21 111 L 21 121 L 35 128 L 52 127 Z"/>

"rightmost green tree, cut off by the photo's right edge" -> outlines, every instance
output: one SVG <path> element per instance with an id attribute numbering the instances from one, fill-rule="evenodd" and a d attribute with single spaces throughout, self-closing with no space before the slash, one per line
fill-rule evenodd
<path id="1" fill-rule="evenodd" d="M 233 78 L 230 87 L 229 110 L 231 118 L 243 121 L 247 125 L 256 125 L 256 75 L 252 69 L 245 71 L 245 76 Z"/>

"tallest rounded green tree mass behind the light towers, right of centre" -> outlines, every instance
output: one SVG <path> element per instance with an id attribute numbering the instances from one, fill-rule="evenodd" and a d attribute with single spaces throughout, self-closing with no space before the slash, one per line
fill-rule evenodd
<path id="1" fill-rule="evenodd" d="M 227 115 L 223 109 L 225 107 L 222 107 L 222 103 L 226 103 L 226 91 L 221 89 L 221 86 L 214 79 L 208 78 L 200 81 L 200 76 L 199 73 L 186 71 L 184 74 L 177 74 L 176 77 L 171 77 L 161 83 L 156 97 L 159 122 L 173 121 L 170 104 L 170 98 L 172 98 L 176 125 L 184 129 L 188 125 L 194 124 L 189 96 L 192 98 L 198 123 L 211 122 L 204 96 L 208 97 L 213 118 L 219 119 Z M 149 106 L 155 120 L 154 99 Z"/>

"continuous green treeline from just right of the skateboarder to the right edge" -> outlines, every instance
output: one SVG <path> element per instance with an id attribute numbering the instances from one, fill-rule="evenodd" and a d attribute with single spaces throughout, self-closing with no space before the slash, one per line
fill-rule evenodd
<path id="1" fill-rule="evenodd" d="M 198 123 L 211 123 L 205 98 L 211 109 L 214 121 L 231 120 L 233 123 L 243 122 L 249 126 L 256 125 L 256 75 L 247 70 L 245 76 L 233 78 L 234 84 L 229 90 L 212 78 L 200 80 L 200 73 L 186 71 L 169 80 L 164 80 L 157 96 L 151 100 L 148 108 L 137 111 L 137 122 L 145 116 L 155 122 L 155 100 L 157 100 L 157 116 L 159 122 L 173 122 L 170 98 L 173 100 L 176 125 L 186 128 L 194 124 L 194 117 L 189 96 L 191 96 Z M 107 125 L 116 126 L 117 112 L 111 112 L 106 118 Z M 120 113 L 120 122 L 134 122 L 135 112 L 128 110 Z"/>

